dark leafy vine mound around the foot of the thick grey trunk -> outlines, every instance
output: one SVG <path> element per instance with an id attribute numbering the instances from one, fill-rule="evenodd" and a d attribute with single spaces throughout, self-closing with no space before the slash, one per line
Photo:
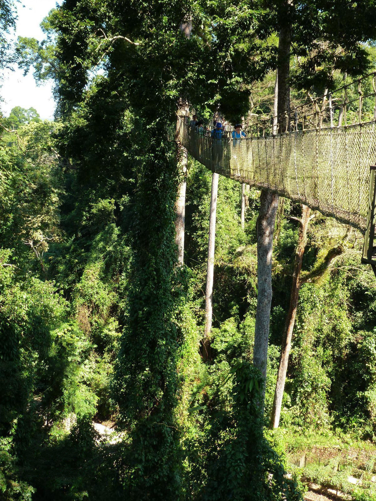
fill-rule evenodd
<path id="1" fill-rule="evenodd" d="M 227 394 L 222 391 L 225 374 L 226 381 L 233 377 Z M 203 431 L 191 450 L 195 453 L 193 473 L 201 476 L 200 480 L 192 478 L 195 498 L 301 499 L 295 482 L 285 476 L 280 458 L 262 434 L 260 373 L 249 362 L 241 361 L 225 374 L 213 371 L 215 391 L 206 406 L 198 407 L 199 412 L 205 409 L 205 414 Z"/>

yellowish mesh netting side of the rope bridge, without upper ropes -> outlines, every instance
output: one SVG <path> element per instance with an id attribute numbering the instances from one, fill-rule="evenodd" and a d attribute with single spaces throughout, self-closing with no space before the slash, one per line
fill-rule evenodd
<path id="1" fill-rule="evenodd" d="M 369 166 L 376 161 L 375 122 L 211 144 L 210 136 L 200 135 L 181 117 L 177 137 L 214 172 L 269 188 L 365 230 Z"/>

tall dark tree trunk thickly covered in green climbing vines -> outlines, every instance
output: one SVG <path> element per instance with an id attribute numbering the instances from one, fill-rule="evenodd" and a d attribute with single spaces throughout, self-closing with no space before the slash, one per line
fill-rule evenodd
<path id="1" fill-rule="evenodd" d="M 142 118 L 150 124 L 147 111 L 141 109 Z M 172 501 L 181 488 L 175 422 L 178 333 L 172 290 L 178 172 L 163 126 L 154 123 L 149 130 L 148 155 L 137 165 L 128 321 L 116 362 L 115 390 L 118 426 L 130 430 L 130 445 L 122 453 L 128 475 L 124 498 Z"/>

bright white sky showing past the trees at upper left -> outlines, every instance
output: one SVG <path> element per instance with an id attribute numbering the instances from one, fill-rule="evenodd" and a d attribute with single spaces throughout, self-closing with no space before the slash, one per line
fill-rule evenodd
<path id="1" fill-rule="evenodd" d="M 61 3 L 61 2 L 59 2 Z M 18 6 L 18 21 L 16 33 L 12 33 L 12 39 L 21 37 L 33 37 L 43 40 L 44 34 L 39 25 L 49 11 L 56 7 L 56 0 L 21 0 Z M 17 65 L 15 71 L 5 71 L 3 85 L 0 93 L 4 99 L 0 103 L 0 110 L 8 116 L 12 108 L 35 108 L 41 118 L 53 119 L 55 103 L 52 97 L 52 81 L 37 86 L 32 71 L 24 77 L 23 70 Z"/>

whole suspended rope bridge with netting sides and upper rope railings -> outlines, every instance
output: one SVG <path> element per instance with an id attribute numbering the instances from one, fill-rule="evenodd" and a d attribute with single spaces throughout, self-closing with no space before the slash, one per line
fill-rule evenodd
<path id="1" fill-rule="evenodd" d="M 376 73 L 312 98 L 290 117 L 286 133 L 273 134 L 278 125 L 268 117 L 250 124 L 246 137 L 225 131 L 213 139 L 179 115 L 176 139 L 213 172 L 268 188 L 364 232 L 369 167 L 376 162 Z"/>

